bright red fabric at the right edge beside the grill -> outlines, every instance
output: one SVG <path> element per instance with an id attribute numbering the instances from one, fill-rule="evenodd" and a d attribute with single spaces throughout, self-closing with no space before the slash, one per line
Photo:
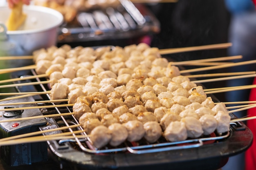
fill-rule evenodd
<path id="1" fill-rule="evenodd" d="M 256 0 L 254 0 L 256 2 Z M 256 84 L 256 78 L 254 78 L 253 84 Z M 249 101 L 256 101 L 256 88 L 251 89 Z M 247 110 L 248 117 L 256 116 L 256 108 Z M 254 139 L 252 146 L 245 152 L 245 170 L 256 170 L 256 119 L 248 120 L 247 126 L 252 130 Z"/>

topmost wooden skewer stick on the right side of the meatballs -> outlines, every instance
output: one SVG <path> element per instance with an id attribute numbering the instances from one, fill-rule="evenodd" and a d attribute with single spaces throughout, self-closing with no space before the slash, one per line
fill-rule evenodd
<path id="1" fill-rule="evenodd" d="M 210 50 L 210 49 L 225 49 L 232 46 L 232 43 L 222 43 L 222 44 L 211 44 L 211 45 L 203 45 L 203 46 L 191 46 L 191 47 L 183 47 L 183 48 L 172 48 L 172 49 L 163 49 L 159 50 L 161 55 L 164 54 L 172 54 L 172 53 L 181 53 L 188 51 L 199 51 L 199 50 Z"/>

